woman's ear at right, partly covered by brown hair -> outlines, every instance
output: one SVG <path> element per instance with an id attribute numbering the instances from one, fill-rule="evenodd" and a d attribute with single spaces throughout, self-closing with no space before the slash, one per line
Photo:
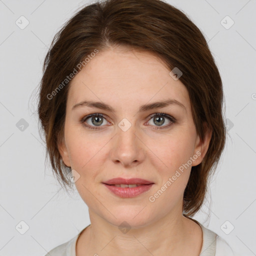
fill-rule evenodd
<path id="1" fill-rule="evenodd" d="M 210 143 L 210 139 L 211 139 L 211 134 L 212 134 L 212 130 L 210 128 L 208 128 L 208 125 L 206 122 L 203 123 L 203 128 L 204 128 L 204 138 L 203 140 L 200 139 L 199 135 L 197 134 L 196 137 L 196 142 L 195 142 L 195 147 L 194 147 L 194 154 L 198 156 L 193 162 L 192 162 L 192 166 L 196 166 L 199 163 L 201 163 L 204 155 L 206 154 L 208 147 L 209 147 L 209 143 Z M 193 157 L 194 158 L 194 157 Z"/>

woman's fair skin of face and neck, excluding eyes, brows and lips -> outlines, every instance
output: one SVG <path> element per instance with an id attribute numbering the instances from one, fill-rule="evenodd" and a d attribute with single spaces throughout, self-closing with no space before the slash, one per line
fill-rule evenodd
<path id="1" fill-rule="evenodd" d="M 138 112 L 140 105 L 168 98 L 182 103 Z M 102 101 L 115 109 L 72 106 L 83 100 Z M 164 112 L 160 127 L 150 115 Z M 80 120 L 102 113 L 100 126 L 89 117 L 86 128 Z M 102 117 L 101 117 L 102 118 Z M 131 126 L 123 131 L 118 123 L 126 118 Z M 171 123 L 170 126 L 167 125 Z M 76 255 L 191 255 L 198 256 L 202 230 L 182 215 L 182 198 L 191 166 L 205 155 L 211 131 L 204 140 L 196 133 L 186 87 L 169 75 L 157 56 L 115 47 L 100 51 L 71 80 L 66 103 L 64 137 L 59 152 L 64 163 L 80 177 L 75 186 L 87 204 L 91 225 L 79 236 Z M 189 157 L 197 159 L 155 199 L 159 190 Z M 154 182 L 149 191 L 121 198 L 101 182 L 113 177 L 139 177 Z M 126 221 L 131 229 L 118 226 Z M 97 254 L 96 254 L 97 253 Z"/>

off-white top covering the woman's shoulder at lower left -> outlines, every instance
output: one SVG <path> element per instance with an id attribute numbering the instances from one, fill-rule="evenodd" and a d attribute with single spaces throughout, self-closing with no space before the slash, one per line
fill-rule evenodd
<path id="1" fill-rule="evenodd" d="M 51 249 L 45 256 L 75 256 L 75 243 L 78 234 L 69 241 Z"/>

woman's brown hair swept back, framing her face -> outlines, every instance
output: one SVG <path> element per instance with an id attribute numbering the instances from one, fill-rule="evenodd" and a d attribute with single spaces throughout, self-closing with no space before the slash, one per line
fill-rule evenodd
<path id="1" fill-rule="evenodd" d="M 146 50 L 159 56 L 169 70 L 178 67 L 182 71 L 179 79 L 189 93 L 197 134 L 204 137 L 203 122 L 212 129 L 208 150 L 202 162 L 192 166 L 184 190 L 183 215 L 193 216 L 204 201 L 207 182 L 225 143 L 222 82 L 199 28 L 182 11 L 160 0 L 92 3 L 77 11 L 55 34 L 44 60 L 38 102 L 53 173 L 64 187 L 71 186 L 66 178 L 71 169 L 63 163 L 57 146 L 63 137 L 70 84 L 66 77 L 78 72 L 79 63 L 95 49 L 109 46 Z"/>

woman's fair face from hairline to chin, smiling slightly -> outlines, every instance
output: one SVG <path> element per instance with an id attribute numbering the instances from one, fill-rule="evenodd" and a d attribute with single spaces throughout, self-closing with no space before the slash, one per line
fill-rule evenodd
<path id="1" fill-rule="evenodd" d="M 79 177 L 75 186 L 90 214 L 140 227 L 181 215 L 191 166 L 201 162 L 209 139 L 197 136 L 188 92 L 158 57 L 109 48 L 71 80 L 59 151 Z M 133 191 L 123 197 L 104 184 L 116 177 L 152 184 L 142 190 L 115 186 Z"/>

